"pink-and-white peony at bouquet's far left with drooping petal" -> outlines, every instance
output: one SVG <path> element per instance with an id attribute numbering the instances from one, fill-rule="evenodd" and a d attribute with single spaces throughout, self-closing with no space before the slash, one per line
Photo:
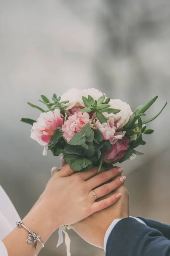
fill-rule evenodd
<path id="1" fill-rule="evenodd" d="M 41 113 L 37 122 L 33 124 L 31 129 L 31 139 L 37 140 L 40 145 L 45 146 L 43 154 L 46 154 L 47 145 L 50 138 L 55 134 L 57 127 L 62 127 L 63 118 L 61 117 L 59 109 Z"/>

